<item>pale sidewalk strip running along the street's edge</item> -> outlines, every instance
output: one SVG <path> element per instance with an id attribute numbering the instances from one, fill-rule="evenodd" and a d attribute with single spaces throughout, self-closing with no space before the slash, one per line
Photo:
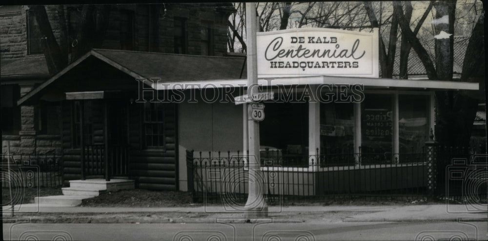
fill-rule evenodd
<path id="1" fill-rule="evenodd" d="M 9 207 L 3 207 L 9 221 Z M 270 206 L 265 219 L 244 218 L 244 213 L 223 206 L 195 207 L 69 207 L 23 204 L 16 206 L 16 218 L 31 222 L 75 223 L 190 223 L 190 222 L 389 222 L 389 221 L 488 221 L 484 210 L 465 205 L 380 205 L 380 206 Z"/>

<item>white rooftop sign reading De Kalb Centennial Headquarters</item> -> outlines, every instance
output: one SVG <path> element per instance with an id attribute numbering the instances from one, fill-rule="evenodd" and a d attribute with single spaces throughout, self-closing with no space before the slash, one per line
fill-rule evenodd
<path id="1" fill-rule="evenodd" d="M 258 76 L 379 77 L 378 31 L 299 28 L 257 34 Z"/>

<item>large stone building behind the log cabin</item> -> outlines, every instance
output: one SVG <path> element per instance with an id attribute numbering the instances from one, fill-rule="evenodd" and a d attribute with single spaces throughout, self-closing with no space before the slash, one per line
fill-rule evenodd
<path id="1" fill-rule="evenodd" d="M 67 43 L 77 45 L 80 5 L 64 5 Z M 226 21 L 231 4 L 111 5 L 108 29 L 101 48 L 189 55 L 224 56 Z M 46 12 L 54 36 L 61 41 L 57 7 Z M 31 89 L 52 77 L 41 46 L 41 33 L 28 6 L 0 7 L 2 154 L 61 153 L 61 106 L 39 101 L 18 106 Z"/>

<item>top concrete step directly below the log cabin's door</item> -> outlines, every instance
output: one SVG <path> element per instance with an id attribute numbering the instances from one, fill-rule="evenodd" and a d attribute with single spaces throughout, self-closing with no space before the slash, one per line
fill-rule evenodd
<path id="1" fill-rule="evenodd" d="M 91 190 L 106 190 L 107 192 L 116 192 L 119 190 L 130 190 L 135 188 L 134 180 L 127 179 L 86 179 L 71 180 L 69 186 L 73 188 L 83 188 Z"/>

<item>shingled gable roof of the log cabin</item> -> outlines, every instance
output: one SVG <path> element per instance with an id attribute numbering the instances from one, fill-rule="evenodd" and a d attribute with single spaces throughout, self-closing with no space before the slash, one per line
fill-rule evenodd
<path id="1" fill-rule="evenodd" d="M 32 103 L 77 66 L 93 62 L 96 58 L 135 79 L 161 79 L 168 83 L 185 83 L 215 79 L 238 79 L 245 68 L 243 57 L 216 57 L 199 55 L 167 54 L 155 52 L 124 51 L 112 49 L 92 49 L 78 60 L 65 67 L 46 82 L 32 89 L 17 102 L 19 105 Z M 86 69 L 89 71 L 90 69 Z M 242 71 L 246 78 L 246 71 Z M 151 82 L 144 82 L 148 85 Z"/>

